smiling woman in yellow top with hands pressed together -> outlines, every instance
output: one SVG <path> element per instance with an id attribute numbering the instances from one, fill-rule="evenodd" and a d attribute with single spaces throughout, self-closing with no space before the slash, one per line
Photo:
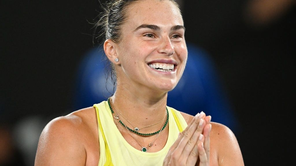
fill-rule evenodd
<path id="1" fill-rule="evenodd" d="M 173 0 L 112 1 L 101 25 L 115 94 L 49 122 L 35 165 L 244 165 L 229 128 L 166 106 L 187 59 Z"/>

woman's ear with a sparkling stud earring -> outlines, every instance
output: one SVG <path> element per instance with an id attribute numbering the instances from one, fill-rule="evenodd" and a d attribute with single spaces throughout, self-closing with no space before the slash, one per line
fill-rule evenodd
<path id="1" fill-rule="evenodd" d="M 107 39 L 104 42 L 104 51 L 107 56 L 107 58 L 113 63 L 113 64 L 120 64 L 118 53 L 116 51 L 117 44 L 114 43 L 112 40 Z"/>

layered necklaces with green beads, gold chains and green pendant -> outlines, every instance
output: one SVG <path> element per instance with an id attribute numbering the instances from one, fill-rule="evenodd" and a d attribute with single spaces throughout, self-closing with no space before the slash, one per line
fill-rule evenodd
<path id="1" fill-rule="evenodd" d="M 157 139 L 157 137 L 160 135 L 160 132 L 161 131 L 163 131 L 163 129 L 166 127 L 166 125 L 168 124 L 168 108 L 166 108 L 166 114 L 165 114 L 165 117 L 166 117 L 166 121 L 164 121 L 163 122 L 163 125 L 162 125 L 162 127 L 161 127 L 161 129 L 160 130 L 158 130 L 158 131 L 156 131 L 156 132 L 154 132 L 154 133 L 146 133 L 146 134 L 144 134 L 144 133 L 139 133 L 138 131 L 140 130 L 140 129 L 142 129 L 142 128 L 146 128 L 146 127 L 149 127 L 149 126 L 153 126 L 153 125 L 155 125 L 155 124 L 157 124 L 157 123 L 160 123 L 161 121 L 163 121 L 163 119 L 165 118 L 163 118 L 161 121 L 159 121 L 159 122 L 157 122 L 157 123 L 154 123 L 154 124 L 152 124 L 152 125 L 148 125 L 148 126 L 145 126 L 145 127 L 142 127 L 142 128 L 138 128 L 138 127 L 134 127 L 133 126 L 133 124 L 130 122 L 130 121 L 128 121 L 128 119 L 127 118 L 125 118 L 116 108 L 115 108 L 115 106 L 113 105 L 113 103 L 112 103 L 112 100 L 111 100 L 111 97 L 109 97 L 108 98 L 108 105 L 109 105 L 109 108 L 110 108 L 110 110 L 111 110 L 111 113 L 112 114 L 114 114 L 114 118 L 116 119 L 116 120 L 118 120 L 119 121 L 119 123 L 123 126 L 123 127 L 125 127 L 126 129 L 127 129 L 127 131 L 128 131 L 128 133 L 131 135 L 131 137 L 133 137 L 133 139 L 140 145 L 140 147 L 141 147 L 141 151 L 142 152 L 147 152 L 147 151 L 149 151 L 149 149 L 150 149 L 150 147 L 152 147 L 152 145 L 153 145 L 153 143 L 155 142 L 155 140 Z M 114 109 L 113 109 L 113 108 Z M 124 123 L 123 123 L 123 121 L 121 120 L 121 118 L 120 118 L 120 116 L 118 115 L 118 113 L 123 117 L 123 118 L 125 118 L 127 121 L 128 121 L 128 123 L 130 123 L 133 127 L 134 127 L 134 130 L 133 129 L 131 129 L 131 128 L 129 128 L 128 126 L 126 126 Z M 156 136 L 155 136 L 155 138 L 153 139 L 153 141 L 152 142 L 150 142 L 148 145 L 147 145 L 147 147 L 144 147 L 144 146 L 142 146 L 142 144 L 135 138 L 135 136 L 131 133 L 131 132 L 133 132 L 133 133 L 135 133 L 135 134 L 138 134 L 138 135 L 141 135 L 141 136 L 152 136 L 152 135 L 155 135 L 156 134 Z"/>

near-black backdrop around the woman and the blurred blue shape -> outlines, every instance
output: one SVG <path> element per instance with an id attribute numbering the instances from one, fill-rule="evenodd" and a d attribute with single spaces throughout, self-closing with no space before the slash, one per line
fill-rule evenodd
<path id="1" fill-rule="evenodd" d="M 245 165 L 286 165 L 295 130 L 295 3 L 266 22 L 252 21 L 246 6 L 247 0 L 183 2 L 186 41 L 215 62 L 241 125 L 235 134 Z M 99 2 L 1 1 L 1 8 L 1 135 L 15 138 L 15 126 L 29 116 L 42 121 L 40 135 L 51 119 L 75 111 L 75 75 L 96 47 L 89 22 Z M 32 165 L 12 144 L 10 163 Z"/>

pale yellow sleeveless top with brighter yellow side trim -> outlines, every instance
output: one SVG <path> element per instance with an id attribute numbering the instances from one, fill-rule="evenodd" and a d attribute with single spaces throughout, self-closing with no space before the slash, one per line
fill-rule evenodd
<path id="1" fill-rule="evenodd" d="M 168 108 L 168 140 L 158 152 L 142 152 L 132 147 L 123 138 L 116 127 L 108 102 L 103 101 L 94 104 L 98 119 L 100 158 L 98 166 L 157 166 L 163 165 L 163 160 L 169 148 L 178 138 L 179 132 L 187 127 L 187 123 L 181 113 L 173 108 Z"/>

